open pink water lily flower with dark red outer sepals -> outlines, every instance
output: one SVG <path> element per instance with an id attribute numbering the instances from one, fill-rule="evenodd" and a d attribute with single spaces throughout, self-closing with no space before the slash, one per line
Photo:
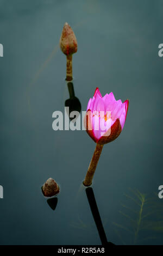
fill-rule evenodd
<path id="1" fill-rule="evenodd" d="M 89 136 L 97 144 L 114 141 L 123 130 L 128 111 L 129 100 L 122 103 L 113 93 L 102 97 L 96 88 L 93 98 L 87 105 L 85 127 Z"/>

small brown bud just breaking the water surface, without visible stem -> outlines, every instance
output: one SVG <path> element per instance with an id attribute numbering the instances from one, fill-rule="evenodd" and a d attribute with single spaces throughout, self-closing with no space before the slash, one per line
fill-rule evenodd
<path id="1" fill-rule="evenodd" d="M 53 197 L 59 193 L 59 186 L 55 180 L 49 178 L 42 186 L 42 193 L 45 197 Z"/>

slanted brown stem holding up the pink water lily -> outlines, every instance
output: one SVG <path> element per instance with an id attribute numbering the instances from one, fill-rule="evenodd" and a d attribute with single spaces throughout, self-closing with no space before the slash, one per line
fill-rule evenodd
<path id="1" fill-rule="evenodd" d="M 84 186 L 88 187 L 92 184 L 93 175 L 95 174 L 96 166 L 99 160 L 103 149 L 103 145 L 96 144 L 95 151 L 93 153 L 89 168 L 87 170 L 87 174 L 85 176 L 85 180 L 83 181 Z"/>

